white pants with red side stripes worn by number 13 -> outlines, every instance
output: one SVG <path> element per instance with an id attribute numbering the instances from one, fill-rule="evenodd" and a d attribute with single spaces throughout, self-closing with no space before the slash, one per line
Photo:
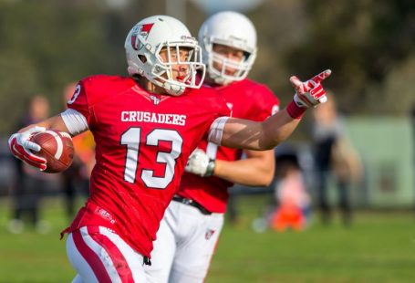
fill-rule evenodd
<path id="1" fill-rule="evenodd" d="M 84 226 L 67 236 L 67 257 L 78 275 L 73 283 L 145 283 L 143 257 L 110 229 Z"/>

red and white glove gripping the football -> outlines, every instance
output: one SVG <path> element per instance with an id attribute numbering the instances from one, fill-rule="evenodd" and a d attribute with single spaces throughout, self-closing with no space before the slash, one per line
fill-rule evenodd
<path id="1" fill-rule="evenodd" d="M 18 159 L 38 168 L 40 171 L 44 171 L 47 169 L 47 160 L 33 153 L 40 151 L 40 145 L 29 141 L 31 136 L 41 131 L 46 131 L 46 129 L 36 126 L 27 131 L 17 132 L 9 138 L 8 146 L 10 152 Z"/>

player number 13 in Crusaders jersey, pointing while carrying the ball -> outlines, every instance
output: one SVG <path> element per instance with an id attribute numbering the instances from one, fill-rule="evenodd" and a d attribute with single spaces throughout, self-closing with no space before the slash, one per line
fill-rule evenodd
<path id="1" fill-rule="evenodd" d="M 146 282 L 152 241 L 176 193 L 190 154 L 203 137 L 227 147 L 270 150 L 296 129 L 310 106 L 326 99 L 320 81 L 327 70 L 302 82 L 285 110 L 264 122 L 229 117 L 214 89 L 198 89 L 201 49 L 189 30 L 170 16 L 150 16 L 125 42 L 130 77 L 81 79 L 68 109 L 21 129 L 9 139 L 11 152 L 45 170 L 30 137 L 45 129 L 72 136 L 91 131 L 96 164 L 90 195 L 67 236 L 74 282 Z M 202 76 L 203 77 L 203 76 Z"/>

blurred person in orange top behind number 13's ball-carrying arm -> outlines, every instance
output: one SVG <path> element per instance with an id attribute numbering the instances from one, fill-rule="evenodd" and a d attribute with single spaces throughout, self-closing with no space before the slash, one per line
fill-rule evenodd
<path id="1" fill-rule="evenodd" d="M 74 95 L 77 84 L 68 83 L 63 91 L 65 108 L 67 101 Z M 77 194 L 88 195 L 89 176 L 95 165 L 95 142 L 90 131 L 85 131 L 73 138 L 75 156 L 72 165 L 62 173 L 63 190 L 67 216 L 72 219 L 76 211 Z"/>

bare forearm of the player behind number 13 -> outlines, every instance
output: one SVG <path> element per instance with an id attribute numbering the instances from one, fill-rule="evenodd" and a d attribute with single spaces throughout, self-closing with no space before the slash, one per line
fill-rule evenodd
<path id="1" fill-rule="evenodd" d="M 274 154 L 274 153 L 273 153 Z M 266 186 L 274 178 L 274 160 L 244 159 L 234 162 L 215 161 L 213 175 L 232 183 L 249 186 Z"/>

